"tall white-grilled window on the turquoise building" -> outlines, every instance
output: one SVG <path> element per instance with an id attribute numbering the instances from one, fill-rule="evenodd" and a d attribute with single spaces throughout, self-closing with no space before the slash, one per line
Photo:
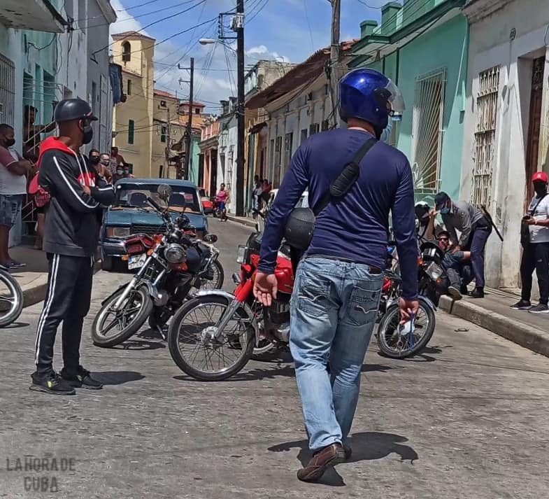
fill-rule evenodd
<path id="1" fill-rule="evenodd" d="M 445 71 L 437 71 L 415 83 L 412 157 L 417 190 L 439 190 L 445 78 Z"/>

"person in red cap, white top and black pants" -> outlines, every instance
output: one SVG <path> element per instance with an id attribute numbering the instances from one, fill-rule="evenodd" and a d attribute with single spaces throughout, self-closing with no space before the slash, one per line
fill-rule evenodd
<path id="1" fill-rule="evenodd" d="M 548 314 L 549 308 L 549 195 L 548 176 L 545 171 L 536 171 L 532 182 L 536 195 L 528 208 L 522 223 L 528 225 L 529 241 L 523 241 L 520 279 L 522 297 L 511 308 L 529 310 L 532 314 Z M 536 269 L 539 284 L 539 304 L 532 307 L 532 272 Z"/>

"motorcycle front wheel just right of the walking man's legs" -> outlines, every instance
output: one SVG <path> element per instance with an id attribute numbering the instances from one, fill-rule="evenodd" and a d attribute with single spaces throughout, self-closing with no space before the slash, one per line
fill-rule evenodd
<path id="1" fill-rule="evenodd" d="M 420 300 L 413 331 L 409 332 L 406 325 L 403 328 L 399 327 L 399 307 L 390 307 L 378 328 L 378 346 L 382 355 L 403 359 L 420 353 L 433 336 L 435 321 L 433 309 Z"/>

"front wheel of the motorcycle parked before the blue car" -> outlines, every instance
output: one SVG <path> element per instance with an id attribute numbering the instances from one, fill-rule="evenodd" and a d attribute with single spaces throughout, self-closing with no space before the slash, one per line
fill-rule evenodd
<path id="1" fill-rule="evenodd" d="M 94 345 L 108 348 L 119 345 L 138 332 L 152 312 L 153 303 L 145 286 L 132 289 L 122 306 L 114 310 L 114 304 L 124 293 L 124 288 L 108 298 L 92 324 Z"/>

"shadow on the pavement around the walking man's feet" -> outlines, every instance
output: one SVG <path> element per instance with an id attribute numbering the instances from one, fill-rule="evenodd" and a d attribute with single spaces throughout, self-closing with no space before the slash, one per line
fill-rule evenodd
<path id="1" fill-rule="evenodd" d="M 348 445 L 352 449 L 352 456 L 347 463 L 357 463 L 359 461 L 373 461 L 383 459 L 390 454 L 397 454 L 401 461 L 414 461 L 419 459 L 418 453 L 409 445 L 406 437 L 394 435 L 393 433 L 380 432 L 362 432 L 355 433 L 348 439 Z M 301 465 L 306 465 L 311 458 L 311 452 L 308 449 L 307 440 L 295 440 L 294 442 L 285 442 L 283 444 L 269 447 L 271 452 L 287 452 L 291 449 L 299 449 L 297 459 Z M 335 468 L 327 470 L 319 484 L 329 486 L 343 486 L 343 478 L 336 472 Z"/>

